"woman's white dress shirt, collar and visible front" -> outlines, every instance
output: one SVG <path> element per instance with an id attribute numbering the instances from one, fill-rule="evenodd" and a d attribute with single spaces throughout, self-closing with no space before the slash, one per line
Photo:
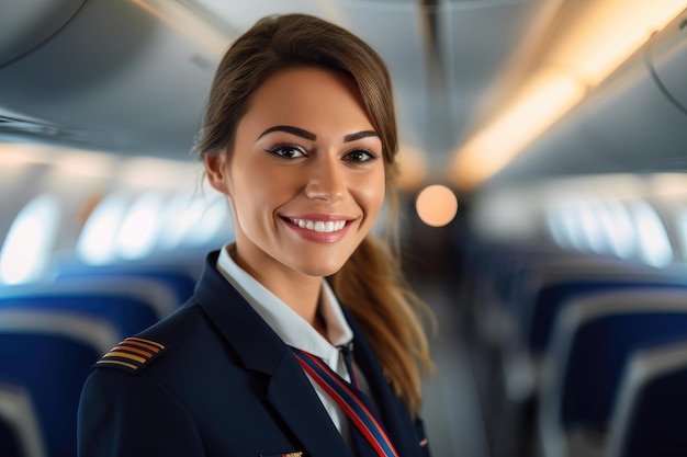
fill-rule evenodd
<path id="1" fill-rule="evenodd" d="M 350 382 L 344 356 L 337 346 L 350 343 L 353 340 L 353 332 L 348 325 L 341 311 L 341 305 L 334 295 L 329 284 L 323 278 L 319 297 L 319 312 L 327 329 L 327 339 L 325 339 L 289 305 L 238 266 L 230 255 L 230 252 L 235 250 L 236 244 L 234 243 L 226 244 L 222 249 L 217 259 L 219 273 L 232 283 L 288 345 L 320 357 L 331 369 Z M 364 376 L 362 376 L 360 369 L 357 369 L 357 367 L 354 369 L 361 390 L 369 395 Z M 349 425 L 346 414 L 317 382 L 313 379 L 311 379 L 311 382 L 327 413 L 329 413 L 331 421 L 350 445 Z"/>

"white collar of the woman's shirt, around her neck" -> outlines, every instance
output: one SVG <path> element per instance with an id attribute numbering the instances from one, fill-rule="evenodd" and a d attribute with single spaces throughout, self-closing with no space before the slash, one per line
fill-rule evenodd
<path id="1" fill-rule="evenodd" d="M 289 305 L 272 294 L 267 287 L 243 270 L 229 254 L 236 250 L 234 243 L 226 244 L 217 259 L 217 270 L 244 296 L 272 330 L 290 346 L 308 352 L 326 359 L 338 361 L 337 346 L 348 344 L 353 339 L 341 305 L 323 278 L 320 292 L 320 313 L 327 327 L 327 339 L 323 338 L 305 319 Z"/>

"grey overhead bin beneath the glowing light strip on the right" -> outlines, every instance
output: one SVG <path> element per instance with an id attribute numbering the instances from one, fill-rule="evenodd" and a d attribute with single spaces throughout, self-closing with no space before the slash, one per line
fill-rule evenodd
<path id="1" fill-rule="evenodd" d="M 586 173 L 687 170 L 686 22 L 687 10 L 488 184 Z"/>

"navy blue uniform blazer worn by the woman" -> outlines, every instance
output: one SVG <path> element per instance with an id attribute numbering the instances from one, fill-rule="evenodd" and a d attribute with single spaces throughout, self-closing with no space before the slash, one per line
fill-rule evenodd
<path id="1" fill-rule="evenodd" d="M 291 350 L 216 261 L 217 252 L 207 256 L 181 309 L 137 335 L 144 341 L 132 340 L 140 357 L 120 358 L 113 350 L 97 365 L 79 405 L 80 457 L 351 457 Z M 360 327 L 345 313 L 356 362 L 396 450 L 429 457 L 420 419 L 394 395 Z"/>

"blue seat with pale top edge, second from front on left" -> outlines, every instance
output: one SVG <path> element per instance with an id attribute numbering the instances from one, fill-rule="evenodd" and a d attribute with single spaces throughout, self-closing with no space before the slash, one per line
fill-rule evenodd
<path id="1" fill-rule="evenodd" d="M 76 455 L 81 388 L 116 341 L 116 329 L 100 319 L 0 309 L 0 378 L 31 395 L 49 457 Z"/>

